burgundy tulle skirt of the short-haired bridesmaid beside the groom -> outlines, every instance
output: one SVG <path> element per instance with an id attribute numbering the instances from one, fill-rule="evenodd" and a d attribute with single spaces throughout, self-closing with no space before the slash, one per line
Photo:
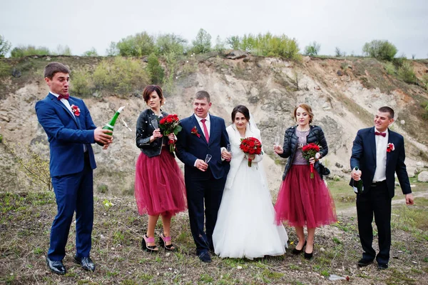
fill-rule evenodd
<path id="1" fill-rule="evenodd" d="M 168 147 L 161 155 L 141 152 L 136 163 L 136 201 L 140 214 L 174 216 L 187 208 L 183 172 Z"/>

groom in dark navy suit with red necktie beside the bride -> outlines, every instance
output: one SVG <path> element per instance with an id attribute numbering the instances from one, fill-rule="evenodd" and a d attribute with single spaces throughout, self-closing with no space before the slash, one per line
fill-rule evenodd
<path id="1" fill-rule="evenodd" d="M 225 121 L 208 114 L 210 94 L 198 91 L 193 100 L 195 114 L 180 121 L 183 130 L 177 136 L 177 156 L 185 164 L 185 187 L 188 198 L 190 230 L 196 253 L 203 262 L 210 262 L 213 251 L 213 231 L 217 221 L 231 154 Z M 212 158 L 205 163 L 205 157 Z M 204 231 L 204 200 L 205 228 Z"/>

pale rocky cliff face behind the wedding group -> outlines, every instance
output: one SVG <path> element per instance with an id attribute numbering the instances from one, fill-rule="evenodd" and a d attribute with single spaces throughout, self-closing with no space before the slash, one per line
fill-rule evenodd
<path id="1" fill-rule="evenodd" d="M 46 65 L 46 58 L 33 59 L 36 66 Z M 50 59 L 49 59 L 50 60 Z M 83 64 L 84 58 L 58 58 L 71 66 Z M 91 59 L 91 64 L 94 64 Z M 315 112 L 314 124 L 325 131 L 329 154 L 324 162 L 332 175 L 347 179 L 352 141 L 358 129 L 372 126 L 372 118 L 380 106 L 396 111 L 394 131 L 406 139 L 409 172 L 427 164 L 428 131 L 424 126 L 424 104 L 427 91 L 421 86 L 405 84 L 389 76 L 381 63 L 374 59 L 304 58 L 301 62 L 275 58 L 245 56 L 225 59 L 205 54 L 195 61 L 195 71 L 185 72 L 180 65 L 174 90 L 165 94 L 163 110 L 180 118 L 192 114 L 191 102 L 198 90 L 212 96 L 212 114 L 231 123 L 230 112 L 238 104 L 248 106 L 262 132 L 265 148 L 263 163 L 267 169 L 270 189 L 277 191 L 285 161 L 272 152 L 273 139 L 282 136 L 294 124 L 292 111 L 297 104 L 307 103 Z M 417 75 L 428 72 L 428 62 L 413 61 Z M 188 70 L 188 69 L 187 69 Z M 0 183 L 4 190 L 32 187 L 19 164 L 10 153 L 25 154 L 26 146 L 47 157 L 46 134 L 38 124 L 34 111 L 37 100 L 46 96 L 46 84 L 39 68 L 32 69 L 27 80 L 6 77 L 1 79 L 0 91 Z M 114 142 L 107 151 L 94 145 L 98 168 L 94 172 L 95 185 L 108 186 L 111 194 L 132 194 L 135 162 L 140 153 L 135 145 L 135 126 L 138 114 L 146 109 L 141 95 L 86 98 L 86 105 L 96 125 L 105 124 L 119 106 L 126 106 L 115 126 Z M 125 126 L 128 125 L 128 128 Z M 131 130 L 130 130 L 131 129 Z M 20 145 L 18 145 L 18 143 Z M 39 144 L 36 144 L 39 143 Z"/>

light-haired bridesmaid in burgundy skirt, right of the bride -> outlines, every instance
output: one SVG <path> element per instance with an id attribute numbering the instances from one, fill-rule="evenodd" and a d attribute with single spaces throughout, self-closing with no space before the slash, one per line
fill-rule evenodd
<path id="1" fill-rule="evenodd" d="M 328 147 L 324 133 L 319 126 L 312 126 L 313 113 L 310 106 L 300 104 L 294 111 L 297 126 L 285 131 L 284 145 L 274 146 L 274 151 L 283 158 L 288 157 L 282 176 L 280 192 L 275 204 L 276 221 L 287 221 L 294 226 L 299 243 L 293 254 L 300 254 L 305 247 L 305 258 L 311 259 L 313 253 L 315 229 L 337 221 L 335 204 L 330 191 L 322 181 L 318 159 L 327 155 Z M 320 151 L 311 158 L 314 175 L 311 178 L 310 165 L 302 156 L 302 146 L 315 143 Z M 307 239 L 303 226 L 307 226 Z"/>

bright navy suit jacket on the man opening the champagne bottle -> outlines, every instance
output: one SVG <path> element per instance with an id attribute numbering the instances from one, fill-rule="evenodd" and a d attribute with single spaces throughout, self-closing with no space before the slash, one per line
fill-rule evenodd
<path id="1" fill-rule="evenodd" d="M 51 176 L 76 174 L 83 170 L 85 163 L 83 144 L 86 144 L 92 169 L 96 168 L 91 144 L 95 143 L 91 114 L 83 100 L 70 96 L 70 105 L 78 106 L 79 116 L 71 111 L 49 93 L 45 99 L 36 103 L 36 114 L 39 123 L 48 135 L 51 159 L 49 168 Z"/>

